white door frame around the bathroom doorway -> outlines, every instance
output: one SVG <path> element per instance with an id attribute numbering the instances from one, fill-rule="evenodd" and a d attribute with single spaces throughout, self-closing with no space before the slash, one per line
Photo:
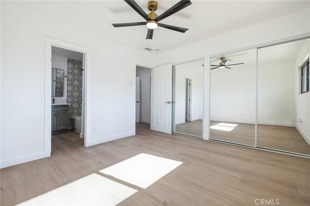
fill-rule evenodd
<path id="1" fill-rule="evenodd" d="M 91 132 L 91 48 L 81 46 L 78 44 L 69 43 L 59 39 L 45 36 L 44 46 L 44 75 L 45 75 L 45 98 L 44 98 L 44 157 L 51 155 L 51 68 L 52 68 L 52 46 L 63 49 L 68 49 L 76 52 L 83 53 L 83 69 L 84 69 L 84 122 L 85 135 L 84 146 L 90 146 L 90 132 Z M 83 105 L 82 105 L 83 107 Z M 83 110 L 83 109 L 82 109 Z M 83 113 L 83 111 L 82 111 Z"/>

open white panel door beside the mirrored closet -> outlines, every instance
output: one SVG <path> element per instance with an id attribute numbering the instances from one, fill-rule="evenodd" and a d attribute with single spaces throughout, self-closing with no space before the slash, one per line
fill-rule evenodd
<path id="1" fill-rule="evenodd" d="M 171 134 L 172 64 L 152 69 L 151 129 Z"/>

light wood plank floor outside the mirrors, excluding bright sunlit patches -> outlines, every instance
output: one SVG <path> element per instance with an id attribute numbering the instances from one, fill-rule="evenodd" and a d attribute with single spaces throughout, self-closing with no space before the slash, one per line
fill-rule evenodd
<path id="1" fill-rule="evenodd" d="M 140 153 L 184 162 L 147 189 L 137 189 L 122 206 L 310 205 L 310 160 L 268 151 L 150 131 L 83 147 L 78 133 L 53 136 L 52 156 L 1 169 L 1 206 L 11 206 Z"/>

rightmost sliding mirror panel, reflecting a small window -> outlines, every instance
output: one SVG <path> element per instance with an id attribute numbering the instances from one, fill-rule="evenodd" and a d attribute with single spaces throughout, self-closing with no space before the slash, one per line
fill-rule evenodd
<path id="1" fill-rule="evenodd" d="M 258 49 L 257 147 L 310 155 L 309 50 L 309 39 Z"/>

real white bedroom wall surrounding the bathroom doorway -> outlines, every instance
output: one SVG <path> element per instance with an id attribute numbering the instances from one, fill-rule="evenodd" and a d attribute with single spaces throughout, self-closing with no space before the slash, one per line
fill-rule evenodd
<path id="1" fill-rule="evenodd" d="M 91 48 L 90 143 L 135 134 L 133 59 L 151 65 L 144 59 L 152 57 L 58 21 L 58 7 L 62 2 L 1 1 L 1 167 L 44 157 L 45 36 Z"/>

